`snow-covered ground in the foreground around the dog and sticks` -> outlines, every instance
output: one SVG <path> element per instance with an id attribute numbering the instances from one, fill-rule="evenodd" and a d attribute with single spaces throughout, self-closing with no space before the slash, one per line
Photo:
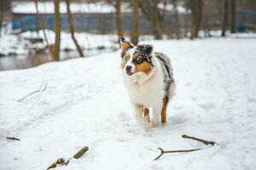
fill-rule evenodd
<path id="1" fill-rule="evenodd" d="M 256 168 L 256 39 L 150 41 L 172 59 L 177 96 L 168 124 L 143 132 L 122 84 L 119 52 L 0 72 L 0 169 Z M 44 92 L 18 99 L 37 89 Z M 216 146 L 182 139 L 188 134 Z M 9 141 L 7 136 L 20 138 Z M 205 148 L 191 153 L 165 150 Z"/>

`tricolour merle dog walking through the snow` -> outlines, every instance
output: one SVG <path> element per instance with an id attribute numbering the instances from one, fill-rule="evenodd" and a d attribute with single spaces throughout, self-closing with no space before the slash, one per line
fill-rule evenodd
<path id="1" fill-rule="evenodd" d="M 137 45 L 120 38 L 121 68 L 125 88 L 131 100 L 135 118 L 145 131 L 160 121 L 166 122 L 166 108 L 175 94 L 170 59 L 162 53 L 154 52 L 152 45 Z M 153 117 L 150 121 L 149 110 Z"/>

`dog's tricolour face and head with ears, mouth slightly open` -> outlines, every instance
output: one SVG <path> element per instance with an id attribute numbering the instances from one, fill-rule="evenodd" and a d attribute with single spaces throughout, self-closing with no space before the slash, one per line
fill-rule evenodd
<path id="1" fill-rule="evenodd" d="M 121 37 L 120 44 L 122 48 L 122 64 L 125 75 L 130 77 L 136 75 L 138 72 L 143 72 L 148 75 L 153 66 L 151 61 L 151 54 L 153 47 L 151 45 L 135 46 L 131 42 L 125 41 Z"/>

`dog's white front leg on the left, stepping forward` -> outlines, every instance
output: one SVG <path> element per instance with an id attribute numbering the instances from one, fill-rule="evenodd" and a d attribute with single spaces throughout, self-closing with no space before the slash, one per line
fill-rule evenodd
<path id="1" fill-rule="evenodd" d="M 138 124 L 143 127 L 145 131 L 150 130 L 149 123 L 143 118 L 142 109 L 143 105 L 131 104 L 133 114 L 138 122 Z"/>

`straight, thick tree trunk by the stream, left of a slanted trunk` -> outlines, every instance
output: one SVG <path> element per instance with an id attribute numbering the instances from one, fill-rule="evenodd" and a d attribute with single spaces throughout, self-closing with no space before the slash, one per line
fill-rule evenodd
<path id="1" fill-rule="evenodd" d="M 61 46 L 61 16 L 60 16 L 60 0 L 55 2 L 55 47 L 54 60 L 60 60 L 60 46 Z"/>

